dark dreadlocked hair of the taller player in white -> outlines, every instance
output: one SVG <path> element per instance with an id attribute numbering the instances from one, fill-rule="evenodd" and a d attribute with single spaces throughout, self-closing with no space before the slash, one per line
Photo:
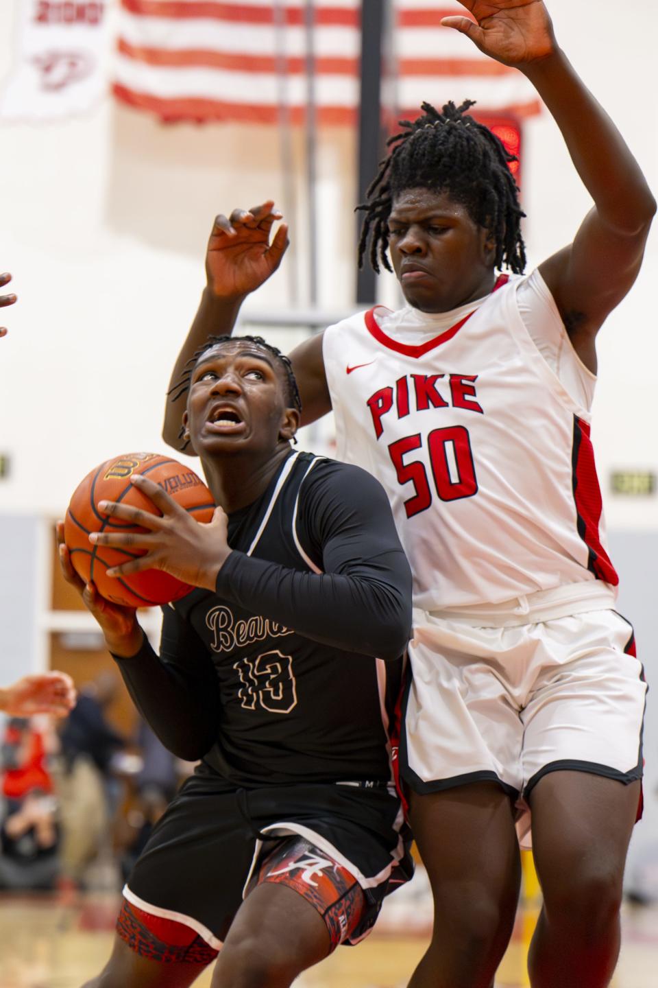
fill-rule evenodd
<path id="1" fill-rule="evenodd" d="M 487 126 L 478 124 L 467 110 L 451 101 L 439 113 L 423 103 L 423 116 L 400 121 L 404 128 L 387 141 L 393 147 L 380 162 L 379 172 L 366 193 L 367 201 L 356 209 L 365 213 L 359 239 L 359 268 L 370 241 L 370 264 L 379 274 L 380 262 L 392 271 L 388 219 L 393 202 L 406 189 L 445 192 L 465 206 L 475 223 L 487 229 L 495 243 L 495 266 L 503 265 L 515 274 L 526 266 L 526 250 L 521 236 L 519 190 L 509 170 L 516 161 L 505 145 Z"/>

